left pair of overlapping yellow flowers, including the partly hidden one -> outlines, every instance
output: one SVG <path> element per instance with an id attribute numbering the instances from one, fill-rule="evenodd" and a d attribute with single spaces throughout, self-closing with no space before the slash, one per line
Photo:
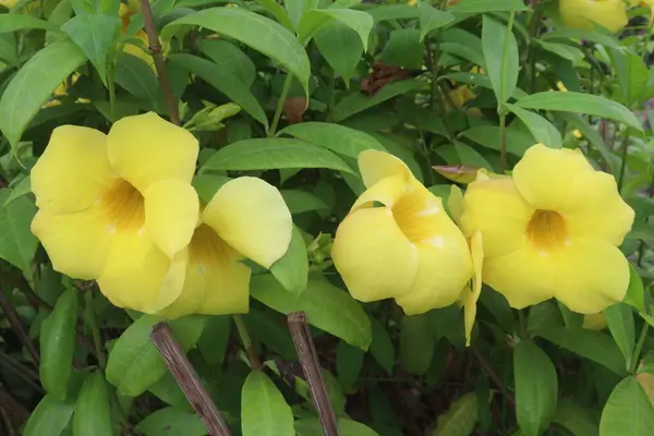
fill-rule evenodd
<path id="1" fill-rule="evenodd" d="M 108 134 L 57 128 L 32 170 L 32 231 L 55 269 L 97 280 L 117 306 L 169 318 L 249 310 L 247 257 L 269 268 L 288 250 L 292 219 L 257 178 L 223 184 L 201 204 L 191 184 L 195 137 L 154 112 Z"/>

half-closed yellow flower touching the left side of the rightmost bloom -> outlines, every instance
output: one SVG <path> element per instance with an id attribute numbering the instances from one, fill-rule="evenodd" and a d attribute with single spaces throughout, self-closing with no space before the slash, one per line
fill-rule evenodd
<path id="1" fill-rule="evenodd" d="M 331 257 L 356 300 L 395 298 L 408 315 L 448 306 L 472 275 L 465 238 L 398 158 L 359 155 L 367 190 L 340 223 Z"/>

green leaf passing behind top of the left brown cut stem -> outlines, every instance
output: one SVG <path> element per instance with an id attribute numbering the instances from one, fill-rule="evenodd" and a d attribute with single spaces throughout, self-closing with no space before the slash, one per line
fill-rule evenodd
<path id="1" fill-rule="evenodd" d="M 107 380 L 118 393 L 137 397 L 166 374 L 166 365 L 150 340 L 153 326 L 161 318 L 142 315 L 118 338 L 107 362 Z M 170 322 L 175 338 L 186 351 L 195 346 L 206 318 L 186 316 Z"/>

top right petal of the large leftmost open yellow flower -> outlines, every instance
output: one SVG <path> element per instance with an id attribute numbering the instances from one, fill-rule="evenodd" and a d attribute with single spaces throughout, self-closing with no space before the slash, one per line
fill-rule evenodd
<path id="1" fill-rule="evenodd" d="M 197 160 L 197 140 L 155 112 L 117 121 L 107 138 L 114 171 L 138 191 L 160 180 L 191 182 Z"/>

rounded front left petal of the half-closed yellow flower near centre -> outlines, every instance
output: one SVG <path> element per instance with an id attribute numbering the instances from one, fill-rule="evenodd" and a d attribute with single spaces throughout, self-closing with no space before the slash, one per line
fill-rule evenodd
<path id="1" fill-rule="evenodd" d="M 359 209 L 338 227 L 331 258 L 356 300 L 407 294 L 417 271 L 417 250 L 386 207 Z"/>

